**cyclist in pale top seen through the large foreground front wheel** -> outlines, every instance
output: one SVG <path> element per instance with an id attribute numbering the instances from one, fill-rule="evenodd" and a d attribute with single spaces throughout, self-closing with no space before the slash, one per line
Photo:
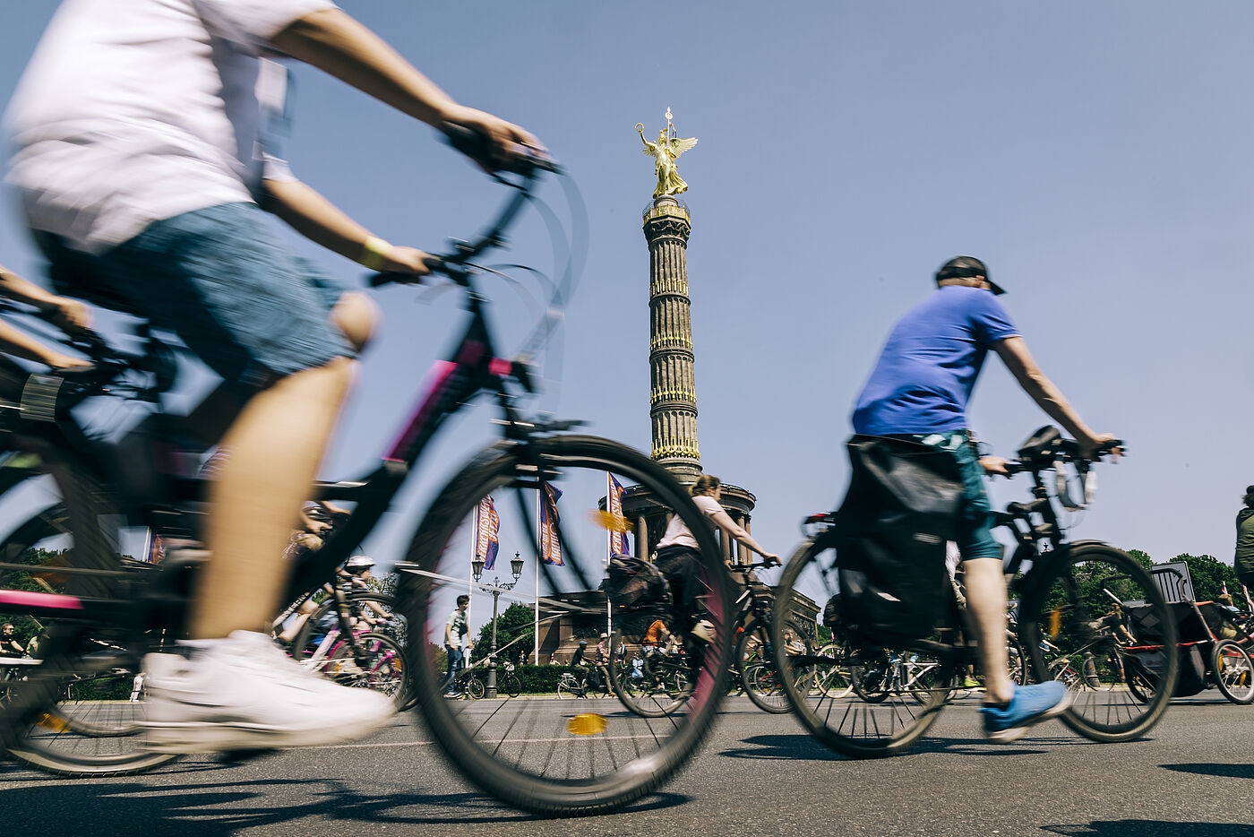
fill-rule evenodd
<path id="1" fill-rule="evenodd" d="M 767 552 L 752 536 L 741 528 L 736 521 L 727 516 L 719 498 L 722 497 L 722 482 L 717 477 L 701 474 L 688 488 L 692 502 L 700 508 L 711 523 L 717 526 L 730 537 L 740 541 L 754 552 L 757 552 L 767 562 L 779 563 L 780 556 Z M 675 596 L 676 616 L 680 617 L 680 627 L 705 641 L 714 639 L 714 626 L 706 620 L 697 620 L 700 609 L 700 596 L 705 592 L 701 581 L 701 553 L 697 551 L 697 540 L 688 527 L 680 520 L 678 514 L 671 516 L 671 522 L 666 526 L 666 533 L 657 542 L 657 568 L 671 582 L 671 594 Z"/>

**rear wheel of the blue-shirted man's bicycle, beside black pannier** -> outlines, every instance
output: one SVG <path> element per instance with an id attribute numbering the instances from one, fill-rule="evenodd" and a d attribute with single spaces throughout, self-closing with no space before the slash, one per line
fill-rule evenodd
<path id="1" fill-rule="evenodd" d="M 776 635 L 780 635 L 785 624 L 794 619 L 799 585 L 806 591 L 808 597 L 813 597 L 815 591 L 819 592 L 819 597 L 814 601 L 819 605 L 820 614 L 826 601 L 838 595 L 834 531 L 820 532 L 808 538 L 785 566 L 775 590 Z M 839 626 L 834 626 L 833 632 L 844 635 L 839 631 Z M 795 678 L 789 674 L 794 668 L 790 655 L 781 645 L 776 645 L 774 650 L 776 666 L 785 673 L 781 678 L 784 691 L 798 719 L 811 735 L 849 758 L 884 758 L 907 750 L 935 723 L 949 694 L 948 688 L 938 689 L 935 693 L 929 693 L 928 699 L 920 704 L 913 693 L 894 694 L 888 689 L 883 690 L 883 696 L 875 703 L 860 696 L 834 699 L 823 690 L 809 688 L 803 693 Z M 870 666 L 864 665 L 867 661 L 864 658 L 865 653 L 858 650 L 853 654 L 853 659 L 811 658 L 808 664 L 846 663 L 855 691 L 877 698 L 879 693 L 869 690 L 867 684 L 861 683 L 872 674 Z M 952 670 L 938 673 L 938 679 L 948 684 L 953 680 L 953 674 Z"/>

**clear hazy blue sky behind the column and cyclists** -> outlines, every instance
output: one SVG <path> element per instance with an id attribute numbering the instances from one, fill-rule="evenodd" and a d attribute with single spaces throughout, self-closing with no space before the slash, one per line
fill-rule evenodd
<path id="1" fill-rule="evenodd" d="M 8 99 L 55 4 L 13 4 Z M 404 3 L 345 0 L 459 100 L 549 144 L 587 201 L 587 271 L 567 309 L 561 380 L 539 407 L 647 449 L 652 162 L 633 131 L 667 107 L 700 144 L 680 162 L 706 471 L 755 492 L 754 532 L 796 543 L 846 477 L 849 409 L 884 336 L 935 267 L 983 259 L 1048 374 L 1131 456 L 1101 469 L 1075 537 L 1231 560 L 1254 483 L 1246 345 L 1254 245 L 1254 78 L 1244 3 Z M 500 197 L 433 139 L 298 69 L 295 171 L 376 235 L 439 248 Z M 557 191 L 551 192 L 558 198 Z M 3 196 L 0 262 L 39 275 Z M 293 240 L 295 241 L 295 240 Z M 544 262 L 539 227 L 523 261 Z M 306 252 L 312 247 L 298 245 Z M 361 270 L 317 255 L 339 276 Z M 515 336 L 528 307 L 502 290 Z M 366 469 L 453 336 L 453 297 L 379 294 L 327 476 Z M 557 365 L 551 364 L 556 370 Z M 424 494 L 492 429 L 480 410 L 369 545 L 394 560 Z M 972 427 L 1009 454 L 1046 418 L 996 359 Z M 1026 498 L 998 483 L 998 503 Z M 503 545 L 503 550 L 509 550 Z"/>

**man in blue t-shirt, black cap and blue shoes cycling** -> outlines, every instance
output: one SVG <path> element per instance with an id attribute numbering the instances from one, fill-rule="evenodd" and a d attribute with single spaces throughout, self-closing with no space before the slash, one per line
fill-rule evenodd
<path id="1" fill-rule="evenodd" d="M 978 458 L 967 423 L 967 402 L 984 356 L 997 353 L 1020 387 L 1050 418 L 1093 454 L 1111 434 L 1093 433 L 1037 368 L 1027 344 L 997 301 L 1004 291 L 988 279 L 978 259 L 951 259 L 935 274 L 937 291 L 893 329 L 854 408 L 854 432 L 897 435 L 949 452 L 963 476 L 959 521 L 967 589 L 984 671 L 984 733 L 1012 742 L 1032 724 L 1062 713 L 1071 703 L 1060 683 L 1016 686 L 1006 669 L 1006 580 L 1002 547 L 992 536 L 992 506 L 984 472 L 1006 472 L 1006 461 Z M 1119 456 L 1121 450 L 1112 450 Z M 1007 474 L 1008 476 L 1008 474 Z"/>

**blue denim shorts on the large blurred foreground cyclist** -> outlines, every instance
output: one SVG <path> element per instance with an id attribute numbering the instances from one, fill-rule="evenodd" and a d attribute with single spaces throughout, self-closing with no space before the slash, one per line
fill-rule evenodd
<path id="1" fill-rule="evenodd" d="M 292 253 L 255 203 L 154 221 L 93 256 L 36 233 L 53 285 L 173 331 L 242 395 L 352 356 L 330 323 L 344 287 Z"/>

